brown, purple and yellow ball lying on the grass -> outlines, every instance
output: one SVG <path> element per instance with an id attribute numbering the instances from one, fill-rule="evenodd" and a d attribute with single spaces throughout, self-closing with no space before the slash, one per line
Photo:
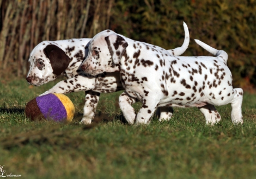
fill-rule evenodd
<path id="1" fill-rule="evenodd" d="M 25 114 L 31 120 L 54 120 L 56 122 L 71 122 L 75 114 L 75 106 L 64 94 L 46 94 L 29 101 Z"/>

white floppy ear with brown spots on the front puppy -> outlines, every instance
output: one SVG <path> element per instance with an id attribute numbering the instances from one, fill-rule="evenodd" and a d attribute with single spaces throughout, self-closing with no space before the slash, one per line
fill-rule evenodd
<path id="1" fill-rule="evenodd" d="M 105 40 L 107 42 L 107 47 L 111 54 L 112 60 L 114 64 L 117 65 L 124 55 L 128 43 L 124 40 L 123 37 L 117 34 L 106 36 Z"/>

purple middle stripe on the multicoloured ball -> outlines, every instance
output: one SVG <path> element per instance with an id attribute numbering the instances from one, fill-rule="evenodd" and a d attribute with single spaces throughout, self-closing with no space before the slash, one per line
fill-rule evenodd
<path id="1" fill-rule="evenodd" d="M 46 119 L 51 118 L 56 122 L 66 119 L 66 109 L 56 95 L 46 94 L 36 97 L 36 103 Z"/>

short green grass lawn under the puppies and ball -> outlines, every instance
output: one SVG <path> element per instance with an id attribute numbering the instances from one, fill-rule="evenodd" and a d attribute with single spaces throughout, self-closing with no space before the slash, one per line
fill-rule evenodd
<path id="1" fill-rule="evenodd" d="M 169 122 L 124 122 L 120 92 L 101 94 L 96 122 L 85 126 L 84 93 L 68 94 L 76 106 L 71 124 L 31 122 L 26 103 L 56 82 L 29 87 L 0 84 L 0 165 L 22 178 L 254 178 L 256 95 L 245 93 L 243 125 L 233 125 L 230 105 L 217 107 L 219 124 L 205 126 L 197 108 L 174 108 Z M 136 110 L 140 104 L 134 105 Z M 0 174 L 1 175 L 1 174 Z"/>

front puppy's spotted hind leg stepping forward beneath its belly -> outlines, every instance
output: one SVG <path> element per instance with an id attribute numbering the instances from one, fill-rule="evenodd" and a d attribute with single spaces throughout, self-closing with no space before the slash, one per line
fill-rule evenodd
<path id="1" fill-rule="evenodd" d="M 214 125 L 221 120 L 221 115 L 218 113 L 214 105 L 207 104 L 203 107 L 198 107 L 198 109 L 204 114 L 206 125 Z"/>

